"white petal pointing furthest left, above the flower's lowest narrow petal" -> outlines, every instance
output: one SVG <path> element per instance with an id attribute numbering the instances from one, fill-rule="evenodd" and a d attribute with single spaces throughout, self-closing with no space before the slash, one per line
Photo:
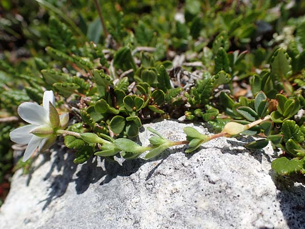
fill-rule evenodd
<path id="1" fill-rule="evenodd" d="M 34 136 L 33 134 L 31 134 L 29 132 L 34 130 L 36 127 L 38 127 L 38 126 L 37 125 L 26 125 L 23 127 L 19 127 L 10 133 L 10 138 L 12 141 L 14 141 L 18 144 L 28 144 L 28 142 Z"/>

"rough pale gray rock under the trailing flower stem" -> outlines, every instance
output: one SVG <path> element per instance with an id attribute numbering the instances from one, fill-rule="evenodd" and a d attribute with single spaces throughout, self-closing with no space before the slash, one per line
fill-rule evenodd
<path id="1" fill-rule="evenodd" d="M 185 139 L 186 124 L 147 126 Z M 151 135 L 142 131 L 140 142 Z M 57 146 L 30 176 L 15 173 L 0 228 L 305 228 L 305 186 L 273 174 L 271 146 L 249 151 L 250 140 L 222 137 L 194 154 L 175 147 L 123 166 L 100 157 L 75 165 Z"/>

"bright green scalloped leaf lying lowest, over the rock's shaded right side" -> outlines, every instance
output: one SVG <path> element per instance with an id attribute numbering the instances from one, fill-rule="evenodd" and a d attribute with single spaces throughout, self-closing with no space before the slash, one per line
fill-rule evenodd
<path id="1" fill-rule="evenodd" d="M 280 175 L 297 173 L 302 167 L 302 163 L 299 160 L 288 160 L 286 157 L 277 158 L 271 163 L 271 168 Z"/>

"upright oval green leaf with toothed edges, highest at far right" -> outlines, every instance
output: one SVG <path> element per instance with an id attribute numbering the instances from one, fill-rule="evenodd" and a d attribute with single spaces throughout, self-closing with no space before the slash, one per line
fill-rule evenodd
<path id="1" fill-rule="evenodd" d="M 291 58 L 283 48 L 275 51 L 271 58 L 271 76 L 273 78 L 288 78 L 292 74 Z"/>

